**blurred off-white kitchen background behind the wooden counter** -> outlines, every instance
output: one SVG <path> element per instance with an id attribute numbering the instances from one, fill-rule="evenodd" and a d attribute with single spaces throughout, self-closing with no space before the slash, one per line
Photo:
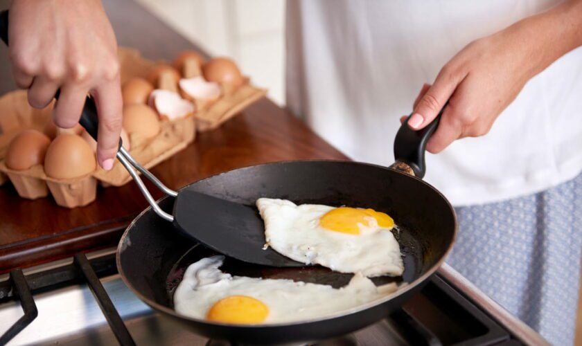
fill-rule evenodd
<path id="1" fill-rule="evenodd" d="M 285 0 L 136 0 L 212 55 L 227 55 L 279 104 Z"/>

